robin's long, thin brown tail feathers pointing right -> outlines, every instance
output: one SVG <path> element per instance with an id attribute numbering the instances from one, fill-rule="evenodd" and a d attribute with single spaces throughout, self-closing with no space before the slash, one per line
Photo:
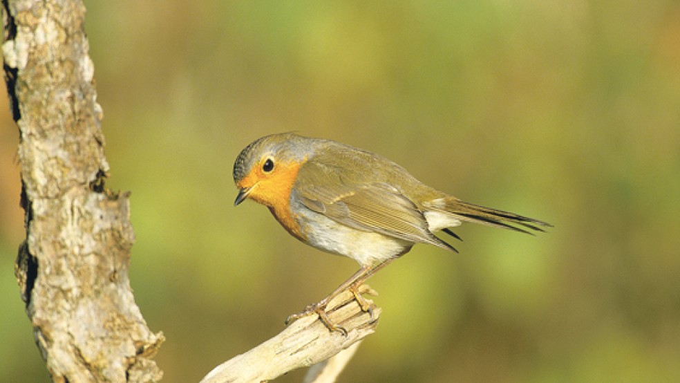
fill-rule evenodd
<path id="1" fill-rule="evenodd" d="M 504 229 L 531 235 L 533 235 L 533 232 L 529 230 L 545 232 L 543 227 L 552 227 L 549 223 L 538 221 L 538 219 L 520 216 L 519 214 L 511 212 L 504 212 L 503 210 L 491 209 L 490 207 L 475 205 L 473 203 L 466 203 L 462 200 L 447 201 L 446 212 L 453 214 L 461 221 L 502 227 Z"/>

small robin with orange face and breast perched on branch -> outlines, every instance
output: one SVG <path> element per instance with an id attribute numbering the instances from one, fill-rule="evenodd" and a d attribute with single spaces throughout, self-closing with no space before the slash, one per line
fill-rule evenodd
<path id="1" fill-rule="evenodd" d="M 548 223 L 466 203 L 421 183 L 406 169 L 370 151 L 319 138 L 279 133 L 255 140 L 234 162 L 238 196 L 269 207 L 278 223 L 303 243 L 348 256 L 361 268 L 337 289 L 290 320 L 317 313 L 329 330 L 345 331 L 328 319 L 325 306 L 350 290 L 372 314 L 359 286 L 415 243 L 457 252 L 433 234 L 459 239 L 451 227 L 463 222 L 531 234 Z"/>

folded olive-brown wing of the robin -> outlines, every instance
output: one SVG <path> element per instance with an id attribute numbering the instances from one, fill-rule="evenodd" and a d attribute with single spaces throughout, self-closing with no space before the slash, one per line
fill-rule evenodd
<path id="1" fill-rule="evenodd" d="M 370 182 L 355 170 L 306 163 L 298 176 L 305 183 L 296 183 L 296 198 L 308 209 L 357 230 L 456 251 L 428 230 L 423 213 L 397 188 Z"/>

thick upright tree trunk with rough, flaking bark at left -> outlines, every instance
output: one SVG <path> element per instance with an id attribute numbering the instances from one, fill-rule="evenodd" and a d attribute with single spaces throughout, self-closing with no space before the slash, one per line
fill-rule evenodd
<path id="1" fill-rule="evenodd" d="M 112 193 L 75 0 L 2 0 L 3 70 L 19 126 L 26 241 L 17 280 L 55 382 L 151 382 L 164 337 L 147 327 L 128 278 L 129 194 Z"/>

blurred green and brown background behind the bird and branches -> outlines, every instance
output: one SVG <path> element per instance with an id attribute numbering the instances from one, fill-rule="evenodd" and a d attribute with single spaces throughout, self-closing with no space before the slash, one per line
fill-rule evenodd
<path id="1" fill-rule="evenodd" d="M 555 225 L 464 225 L 460 254 L 418 245 L 379 272 L 381 323 L 341 382 L 680 382 L 678 1 L 86 6 L 108 186 L 133 192 L 131 279 L 167 337 L 164 382 L 198 381 L 357 269 L 232 206 L 240 149 L 290 130 Z M 12 272 L 2 97 L 0 381 L 48 382 Z"/>

